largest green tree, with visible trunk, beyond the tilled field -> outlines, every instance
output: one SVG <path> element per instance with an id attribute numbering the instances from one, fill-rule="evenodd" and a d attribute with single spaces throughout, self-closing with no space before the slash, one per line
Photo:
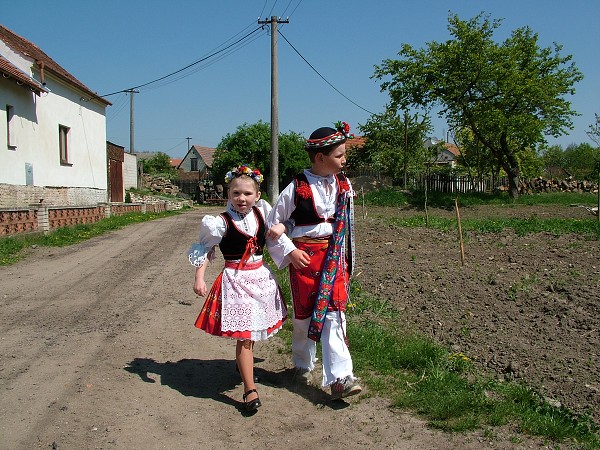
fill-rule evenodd
<path id="1" fill-rule="evenodd" d="M 500 20 L 479 14 L 463 21 L 449 16 L 452 39 L 430 42 L 426 49 L 404 44 L 401 59 L 375 68 L 394 105 L 441 107 L 452 128 L 468 128 L 490 150 L 518 196 L 519 154 L 537 148 L 545 135 L 572 129 L 575 114 L 566 95 L 582 75 L 561 56 L 562 47 L 540 48 L 528 27 L 513 31 L 501 44 L 493 40 Z"/>

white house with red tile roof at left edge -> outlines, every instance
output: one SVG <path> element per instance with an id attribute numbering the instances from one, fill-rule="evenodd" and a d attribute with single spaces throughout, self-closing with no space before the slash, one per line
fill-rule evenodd
<path id="1" fill-rule="evenodd" d="M 0 207 L 106 202 L 109 105 L 0 25 Z"/>

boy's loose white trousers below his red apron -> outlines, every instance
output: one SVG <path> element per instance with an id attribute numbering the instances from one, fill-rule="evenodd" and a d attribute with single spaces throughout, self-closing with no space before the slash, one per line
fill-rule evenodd
<path id="1" fill-rule="evenodd" d="M 341 317 L 341 323 L 340 323 Z M 317 343 L 308 338 L 308 319 L 293 319 L 292 361 L 300 369 L 313 370 L 317 360 Z M 321 334 L 323 353 L 323 387 L 334 383 L 352 373 L 352 358 L 344 340 L 346 333 L 346 315 L 339 311 L 328 311 Z"/>

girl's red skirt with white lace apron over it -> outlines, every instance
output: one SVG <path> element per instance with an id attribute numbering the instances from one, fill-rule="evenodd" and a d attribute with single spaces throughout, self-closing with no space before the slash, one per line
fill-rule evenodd
<path id="1" fill-rule="evenodd" d="M 242 269 L 228 262 L 194 325 L 215 336 L 260 341 L 277 333 L 286 318 L 281 290 L 262 261 Z"/>

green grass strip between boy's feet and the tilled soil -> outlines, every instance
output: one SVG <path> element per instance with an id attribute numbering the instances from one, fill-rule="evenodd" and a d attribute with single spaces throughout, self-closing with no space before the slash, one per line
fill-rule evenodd
<path id="1" fill-rule="evenodd" d="M 510 425 L 516 433 L 599 448 L 599 429 L 588 417 L 550 405 L 523 384 L 477 373 L 468 355 L 403 329 L 398 313 L 386 307 L 386 301 L 361 292 L 356 282 L 353 285 L 350 351 L 356 372 L 372 393 L 448 432 Z"/>

